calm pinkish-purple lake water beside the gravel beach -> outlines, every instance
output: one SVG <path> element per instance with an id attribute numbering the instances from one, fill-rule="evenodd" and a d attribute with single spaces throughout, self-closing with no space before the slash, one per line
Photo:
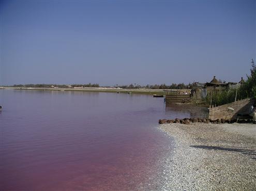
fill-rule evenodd
<path id="1" fill-rule="evenodd" d="M 158 119 L 192 115 L 151 95 L 0 93 L 1 190 L 160 186 L 160 160 L 172 140 L 159 131 Z"/>

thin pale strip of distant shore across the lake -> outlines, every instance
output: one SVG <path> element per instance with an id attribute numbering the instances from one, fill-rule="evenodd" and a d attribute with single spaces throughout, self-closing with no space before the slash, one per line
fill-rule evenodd
<path id="1" fill-rule="evenodd" d="M 162 89 L 121 89 L 121 88 L 23 88 L 23 87 L 0 87 L 0 89 L 12 90 L 40 90 L 40 91 L 80 91 L 80 92 L 108 92 L 108 93 L 132 93 L 132 94 L 158 94 L 165 95 L 167 91 L 178 92 L 187 90 L 162 90 Z"/>

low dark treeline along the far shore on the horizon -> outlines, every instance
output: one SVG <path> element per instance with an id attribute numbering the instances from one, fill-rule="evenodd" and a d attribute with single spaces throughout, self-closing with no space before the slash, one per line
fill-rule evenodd
<path id="1" fill-rule="evenodd" d="M 14 84 L 13 87 L 22 87 L 22 88 L 51 88 L 51 87 L 57 87 L 57 88 L 74 88 L 74 87 L 85 87 L 85 88 L 100 88 L 103 86 L 100 86 L 98 83 L 88 83 L 88 84 Z M 104 86 L 106 88 L 106 86 Z M 172 83 L 171 85 L 166 84 L 155 84 L 155 85 L 139 85 L 136 83 L 131 83 L 130 85 L 115 85 L 115 88 L 123 88 L 123 89 L 191 89 L 192 84 L 184 84 L 184 83 Z M 110 86 L 107 86 L 107 88 L 110 88 Z"/>

